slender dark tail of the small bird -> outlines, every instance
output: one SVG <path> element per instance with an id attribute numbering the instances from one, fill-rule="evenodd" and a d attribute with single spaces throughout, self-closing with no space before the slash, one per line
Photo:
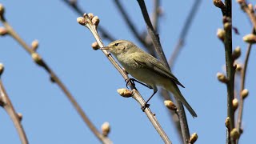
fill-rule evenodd
<path id="1" fill-rule="evenodd" d="M 175 96 L 175 98 L 178 98 L 178 101 L 182 102 L 182 104 L 184 106 L 186 106 L 186 109 L 190 111 L 190 114 L 193 117 L 197 117 L 198 115 L 194 112 L 194 110 L 192 109 L 192 107 L 190 106 L 190 104 L 188 102 L 186 102 L 186 99 L 183 97 L 181 91 L 178 89 L 178 86 L 174 83 L 172 83 L 172 86 L 168 86 L 170 92 L 172 92 Z"/>

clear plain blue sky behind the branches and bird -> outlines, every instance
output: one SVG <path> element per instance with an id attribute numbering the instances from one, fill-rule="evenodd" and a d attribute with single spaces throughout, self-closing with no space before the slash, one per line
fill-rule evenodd
<path id="1" fill-rule="evenodd" d="M 193 2 L 161 3 L 164 15 L 160 19 L 159 36 L 166 58 L 170 58 Z M 101 51 L 92 50 L 90 45 L 94 37 L 76 22 L 79 15 L 70 7 L 61 0 L 1 3 L 6 7 L 6 19 L 27 43 L 38 39 L 38 53 L 62 79 L 94 125 L 100 129 L 103 122 L 110 122 L 109 137 L 114 143 L 162 142 L 138 103 L 118 95 L 116 90 L 125 87 L 126 83 Z M 146 30 L 138 2 L 122 3 L 138 31 Z M 79 1 L 79 4 L 86 12 L 98 15 L 100 25 L 115 38 L 127 39 L 140 46 L 118 13 L 114 1 Z M 151 1 L 146 5 L 151 11 Z M 233 2 L 233 26 L 240 32 L 240 35 L 233 36 L 233 47 L 241 46 L 240 62 L 243 62 L 246 43 L 242 42 L 242 36 L 249 34 L 252 26 L 236 2 Z M 216 73 L 223 72 L 225 65 L 224 47 L 216 37 L 220 27 L 221 11 L 212 1 L 203 1 L 173 69 L 174 75 L 186 86 L 186 89 L 181 88 L 182 94 L 198 114 L 198 118 L 187 115 L 190 133 L 198 134 L 197 143 L 226 142 L 226 86 L 216 78 Z M 105 45 L 109 43 L 103 42 Z M 253 48 L 246 75 L 246 88 L 250 95 L 244 105 L 241 143 L 251 142 L 256 129 L 255 54 Z M 9 36 L 0 38 L 0 62 L 5 65 L 2 81 L 15 109 L 23 114 L 22 125 L 30 143 L 100 143 L 58 86 L 49 81 L 48 74 L 36 66 L 30 55 Z M 138 90 L 145 99 L 152 93 L 144 86 L 138 86 Z M 162 98 L 157 94 L 150 104 L 170 140 L 181 143 Z M 0 119 L 1 142 L 20 143 L 4 110 L 0 110 Z"/>

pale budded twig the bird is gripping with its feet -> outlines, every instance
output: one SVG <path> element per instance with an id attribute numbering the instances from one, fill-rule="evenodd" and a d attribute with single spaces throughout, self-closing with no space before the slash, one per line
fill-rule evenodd
<path id="1" fill-rule="evenodd" d="M 94 35 L 94 38 L 96 39 L 96 42 L 98 42 L 99 47 L 104 47 L 102 39 L 98 35 L 97 26 L 99 19 L 98 17 L 93 17 L 92 14 L 84 14 L 84 18 L 80 17 L 78 18 L 78 22 L 82 26 L 86 26 L 90 32 Z M 122 77 L 127 80 L 129 79 L 128 75 L 124 70 L 122 70 L 121 66 L 118 65 L 117 62 L 114 61 L 114 58 L 110 53 L 108 53 L 106 50 L 102 50 L 102 53 L 105 54 L 105 56 L 109 59 L 109 61 L 113 64 L 113 66 L 118 70 L 118 72 L 122 75 Z M 133 98 L 139 102 L 140 106 L 145 105 L 145 101 L 142 98 L 142 96 L 139 94 L 138 90 L 136 90 L 136 87 L 133 84 L 129 84 L 130 89 L 133 91 Z M 165 143 L 171 143 L 170 139 L 167 137 L 164 130 L 162 130 L 162 126 L 159 124 L 158 120 L 155 118 L 154 114 L 151 112 L 150 108 L 147 107 L 144 111 L 147 117 L 150 119 L 150 122 L 154 126 L 155 130 L 158 131 L 158 134 L 162 138 L 163 142 Z"/>

